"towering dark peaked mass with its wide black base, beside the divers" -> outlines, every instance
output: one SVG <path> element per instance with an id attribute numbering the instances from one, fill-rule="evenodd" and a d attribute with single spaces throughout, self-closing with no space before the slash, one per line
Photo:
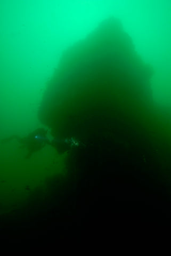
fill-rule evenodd
<path id="1" fill-rule="evenodd" d="M 152 75 L 115 18 L 63 52 L 38 118 L 58 138 L 65 172 L 31 191 L 19 212 L 4 214 L 7 234 L 43 239 L 169 223 L 170 125 L 153 102 Z"/>

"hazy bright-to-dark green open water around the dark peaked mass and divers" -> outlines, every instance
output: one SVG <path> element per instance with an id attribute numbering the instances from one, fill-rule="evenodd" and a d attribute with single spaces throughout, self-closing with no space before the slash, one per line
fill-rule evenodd
<path id="1" fill-rule="evenodd" d="M 142 60 L 153 67 L 153 101 L 157 106 L 166 108 L 165 118 L 169 127 L 170 13 L 169 0 L 2 0 L 0 139 L 13 134 L 25 137 L 37 127 L 43 126 L 38 119 L 38 109 L 63 52 L 84 39 L 101 21 L 111 15 L 121 21 Z M 163 129 L 163 134 L 166 130 L 169 138 L 168 127 L 161 125 L 158 130 Z M 48 138 L 51 139 L 52 135 L 54 134 L 51 134 L 48 127 Z M 30 202 L 36 191 L 40 191 L 38 193 L 41 198 L 46 196 L 47 189 L 50 188 L 48 179 L 59 173 L 66 174 L 66 153 L 59 155 L 50 145 L 26 159 L 27 149 L 20 148 L 19 143 L 12 140 L 0 145 L 0 153 L 2 214 L 15 213 Z"/>

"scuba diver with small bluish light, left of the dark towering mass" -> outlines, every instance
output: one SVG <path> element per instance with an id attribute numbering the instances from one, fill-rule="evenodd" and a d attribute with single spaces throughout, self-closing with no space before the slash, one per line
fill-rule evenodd
<path id="1" fill-rule="evenodd" d="M 27 148 L 28 154 L 26 158 L 30 158 L 32 153 L 42 149 L 46 144 L 51 145 L 51 142 L 46 137 L 47 130 L 44 128 L 38 128 L 35 131 L 29 133 L 26 137 L 21 138 L 18 135 L 12 135 L 11 137 L 1 140 L 1 143 L 7 143 L 16 139 L 20 144 L 20 148 Z"/>

